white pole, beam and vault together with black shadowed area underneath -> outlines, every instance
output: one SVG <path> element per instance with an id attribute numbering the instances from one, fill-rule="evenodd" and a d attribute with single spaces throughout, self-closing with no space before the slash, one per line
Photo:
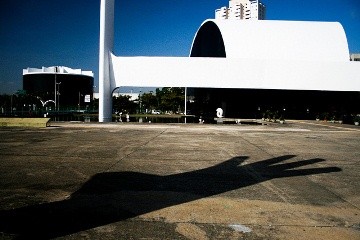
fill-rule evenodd
<path id="1" fill-rule="evenodd" d="M 119 57 L 109 54 L 113 3 L 102 1 L 99 122 L 111 120 L 112 89 L 127 86 L 185 87 L 193 96 L 186 113 L 209 120 L 218 108 L 230 118 L 269 112 L 328 119 L 360 112 L 360 68 L 350 62 L 340 23 L 209 19 L 188 58 Z"/>

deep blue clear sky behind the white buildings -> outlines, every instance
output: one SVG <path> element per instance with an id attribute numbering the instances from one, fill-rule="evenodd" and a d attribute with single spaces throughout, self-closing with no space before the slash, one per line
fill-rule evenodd
<path id="1" fill-rule="evenodd" d="M 200 24 L 228 0 L 116 0 L 115 54 L 188 56 Z M 263 0 L 267 20 L 338 21 L 360 52 L 359 0 Z M 22 89 L 22 69 L 91 70 L 98 85 L 100 0 L 1 0 L 0 94 Z M 319 56 L 321 57 L 321 56 Z"/>

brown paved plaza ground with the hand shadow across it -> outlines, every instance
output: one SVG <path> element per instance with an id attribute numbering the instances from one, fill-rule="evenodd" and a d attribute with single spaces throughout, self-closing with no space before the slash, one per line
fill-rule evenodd
<path id="1" fill-rule="evenodd" d="M 360 239 L 360 128 L 0 128 L 0 238 Z"/>

